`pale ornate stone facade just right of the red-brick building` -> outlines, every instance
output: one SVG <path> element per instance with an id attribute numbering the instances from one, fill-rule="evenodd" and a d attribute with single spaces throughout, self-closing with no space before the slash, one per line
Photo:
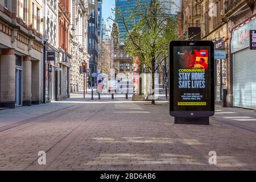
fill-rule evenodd
<path id="1" fill-rule="evenodd" d="M 87 63 L 89 68 L 88 54 L 88 0 L 73 0 L 72 1 L 72 36 L 71 36 L 71 72 L 70 85 L 71 92 L 78 92 L 84 90 L 84 75 L 80 73 L 82 62 Z M 87 80 L 86 80 L 87 84 Z"/>

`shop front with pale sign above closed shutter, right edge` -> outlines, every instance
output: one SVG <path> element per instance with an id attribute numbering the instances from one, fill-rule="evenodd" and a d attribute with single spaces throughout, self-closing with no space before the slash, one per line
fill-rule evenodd
<path id="1" fill-rule="evenodd" d="M 256 32 L 255 16 L 235 27 L 232 32 L 233 104 L 256 109 L 256 50 L 250 48 L 253 38 L 250 30 Z"/>

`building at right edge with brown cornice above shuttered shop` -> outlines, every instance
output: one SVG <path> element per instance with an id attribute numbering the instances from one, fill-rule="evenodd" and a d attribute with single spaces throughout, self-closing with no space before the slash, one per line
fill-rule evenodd
<path id="1" fill-rule="evenodd" d="M 250 49 L 251 31 L 256 30 L 256 1 L 224 2 L 228 34 L 228 106 L 256 109 L 256 50 Z"/>

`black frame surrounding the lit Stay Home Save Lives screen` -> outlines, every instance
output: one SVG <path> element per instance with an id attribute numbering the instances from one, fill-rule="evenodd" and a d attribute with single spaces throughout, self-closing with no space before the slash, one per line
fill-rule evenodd
<path id="1" fill-rule="evenodd" d="M 174 110 L 174 47 L 175 46 L 205 46 L 210 49 L 209 64 L 210 64 L 210 110 L 209 111 L 176 111 Z M 170 115 L 181 118 L 197 118 L 197 117 L 212 117 L 214 115 L 214 43 L 209 40 L 199 41 L 172 41 L 169 44 L 169 101 L 170 101 Z"/>

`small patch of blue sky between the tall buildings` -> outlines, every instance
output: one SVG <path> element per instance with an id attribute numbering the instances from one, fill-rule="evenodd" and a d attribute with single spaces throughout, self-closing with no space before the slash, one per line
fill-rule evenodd
<path id="1" fill-rule="evenodd" d="M 109 26 L 112 27 L 113 21 L 107 19 L 111 16 L 114 18 L 114 15 L 112 14 L 112 9 L 115 8 L 115 0 L 103 0 L 102 3 L 102 16 L 104 18 L 104 21 L 106 22 L 106 28 L 109 29 Z"/>

